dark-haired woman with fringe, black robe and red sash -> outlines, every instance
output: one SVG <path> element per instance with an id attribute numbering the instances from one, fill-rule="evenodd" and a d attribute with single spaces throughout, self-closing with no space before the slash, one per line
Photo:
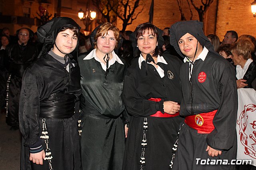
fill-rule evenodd
<path id="1" fill-rule="evenodd" d="M 172 55 L 159 55 L 164 40 L 162 30 L 153 24 L 140 24 L 132 37 L 137 58 L 124 80 L 124 103 L 132 118 L 123 170 L 168 169 L 183 121 L 179 117 L 181 61 Z"/>

